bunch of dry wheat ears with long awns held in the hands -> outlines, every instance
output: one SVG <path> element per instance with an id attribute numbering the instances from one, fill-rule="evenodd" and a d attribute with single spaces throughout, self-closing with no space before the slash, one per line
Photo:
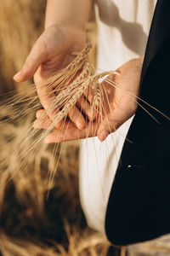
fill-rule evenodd
<path id="1" fill-rule="evenodd" d="M 22 136 L 20 136 L 20 139 L 18 141 L 14 141 L 13 149 L 11 151 L 11 159 L 17 162 L 18 168 L 17 170 L 14 170 L 12 163 L 6 166 L 6 163 L 8 162 L 7 157 L 3 157 L 0 161 L 0 170 L 2 173 L 5 173 L 5 177 L 13 178 L 18 170 L 21 170 L 20 172 L 26 172 L 27 166 L 30 165 L 29 159 L 31 159 L 31 163 L 34 162 L 38 151 L 42 148 L 43 139 L 50 131 L 54 130 L 55 126 L 62 120 L 63 126 L 60 128 L 60 132 L 62 133 L 64 131 L 65 121 L 68 118 L 71 108 L 77 104 L 77 101 L 81 96 L 86 94 L 87 90 L 94 91 L 93 102 L 90 102 L 90 105 L 92 112 L 98 116 L 97 122 L 101 122 L 101 120 L 105 118 L 105 102 L 103 101 L 105 88 L 101 83 L 101 79 L 104 79 L 105 76 L 108 76 L 113 72 L 95 74 L 94 67 L 88 61 L 88 53 L 90 49 L 91 44 L 87 44 L 86 47 L 82 49 L 82 52 L 73 53 L 76 57 L 67 67 L 63 68 L 53 77 L 47 79 L 41 84 L 37 84 L 37 89 L 40 89 L 40 96 L 47 96 L 51 101 L 48 110 L 43 111 L 37 121 L 44 123 L 45 125 L 48 124 L 48 114 L 51 113 L 53 113 L 53 121 L 48 125 L 48 130 L 43 130 L 42 132 L 33 129 L 32 125 L 28 125 L 27 130 Z M 133 102 L 138 103 L 146 113 L 149 113 L 149 111 L 138 102 L 138 96 L 133 96 L 131 92 L 124 90 L 120 84 L 116 84 L 111 79 L 106 78 L 105 81 L 108 84 L 111 84 L 111 86 L 123 90 L 123 92 L 126 93 Z M 48 95 L 48 90 L 50 91 L 50 95 Z M 6 116 L 5 118 L 4 116 L 1 117 L 1 124 L 7 121 L 15 122 L 17 119 L 30 114 L 32 110 L 37 111 L 42 107 L 36 94 L 37 90 L 35 85 L 29 85 L 29 87 L 26 88 L 26 91 L 26 94 L 19 93 L 16 95 L 14 93 L 10 95 L 7 100 L 4 100 L 1 103 L 0 113 L 3 113 L 4 116 Z M 54 93 L 54 96 L 51 96 L 51 91 Z M 141 102 L 144 101 L 141 100 Z M 149 103 L 144 103 L 150 108 L 154 108 L 150 106 Z M 156 108 L 154 109 L 161 113 Z M 167 117 L 165 114 L 163 115 Z M 150 114 L 150 116 L 155 119 L 152 114 Z M 10 140 L 11 138 L 7 142 L 10 143 Z M 54 150 L 54 154 L 57 150 L 56 148 Z M 32 156 L 32 153 L 35 155 Z M 49 169 L 54 169 L 52 166 Z M 55 172 L 53 172 L 52 176 L 49 175 L 49 177 L 54 177 L 54 173 Z"/>

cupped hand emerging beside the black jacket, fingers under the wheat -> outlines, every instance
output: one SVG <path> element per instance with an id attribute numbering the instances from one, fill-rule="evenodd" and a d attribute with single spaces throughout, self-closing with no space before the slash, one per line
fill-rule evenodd
<path id="1" fill-rule="evenodd" d="M 142 64 L 143 57 L 127 61 L 116 70 L 116 73 L 112 73 L 101 84 L 104 101 L 103 120 L 101 122 L 89 122 L 82 131 L 73 124 L 67 124 L 63 129 L 55 127 L 55 131 L 46 137 L 45 142 L 59 143 L 96 135 L 100 141 L 104 141 L 112 131 L 116 131 L 137 109 Z M 42 112 L 38 111 L 37 118 L 41 114 Z M 50 119 L 43 120 L 42 123 L 38 123 L 37 120 L 35 127 L 48 129 L 50 124 Z"/>

